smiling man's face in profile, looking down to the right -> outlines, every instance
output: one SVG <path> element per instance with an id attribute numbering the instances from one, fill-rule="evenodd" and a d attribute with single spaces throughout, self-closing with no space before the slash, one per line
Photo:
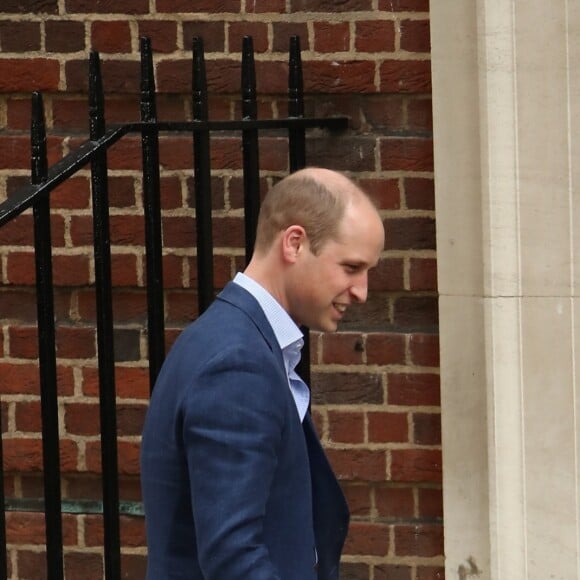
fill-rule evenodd
<path id="1" fill-rule="evenodd" d="M 313 330 L 336 330 L 348 306 L 367 299 L 368 271 L 383 246 L 375 209 L 366 202 L 349 206 L 336 240 L 326 241 L 317 255 L 308 242 L 301 247 L 287 294 L 290 315 Z"/>

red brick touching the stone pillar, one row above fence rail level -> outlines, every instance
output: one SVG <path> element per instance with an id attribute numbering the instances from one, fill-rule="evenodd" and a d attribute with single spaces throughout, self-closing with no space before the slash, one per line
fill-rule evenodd
<path id="1" fill-rule="evenodd" d="M 379 66 L 381 93 L 430 93 L 431 63 L 428 60 L 385 60 Z"/>

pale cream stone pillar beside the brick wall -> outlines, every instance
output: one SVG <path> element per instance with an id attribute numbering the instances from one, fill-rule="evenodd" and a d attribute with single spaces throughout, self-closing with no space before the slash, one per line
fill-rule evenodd
<path id="1" fill-rule="evenodd" d="M 431 2 L 446 578 L 580 578 L 580 2 Z"/>

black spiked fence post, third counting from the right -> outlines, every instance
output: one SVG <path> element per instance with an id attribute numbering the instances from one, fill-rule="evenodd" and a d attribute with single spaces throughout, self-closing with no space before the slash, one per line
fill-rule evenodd
<path id="1" fill-rule="evenodd" d="M 207 79 L 203 40 L 193 38 L 193 120 L 208 120 Z M 197 230 L 197 294 L 201 314 L 213 300 L 213 236 L 211 222 L 211 161 L 207 129 L 193 132 L 193 179 Z"/>

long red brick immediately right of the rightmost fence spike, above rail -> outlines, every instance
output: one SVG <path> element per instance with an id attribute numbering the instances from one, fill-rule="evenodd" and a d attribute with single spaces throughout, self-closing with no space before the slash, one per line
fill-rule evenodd
<path id="1" fill-rule="evenodd" d="M 304 85 L 314 93 L 374 93 L 376 91 L 375 65 L 365 60 L 303 61 L 303 73 Z"/>

